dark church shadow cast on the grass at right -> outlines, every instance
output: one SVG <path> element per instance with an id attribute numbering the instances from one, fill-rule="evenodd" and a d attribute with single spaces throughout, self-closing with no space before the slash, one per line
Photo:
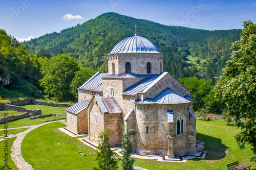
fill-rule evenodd
<path id="1" fill-rule="evenodd" d="M 219 160 L 227 156 L 228 147 L 221 139 L 197 133 L 197 140 L 204 142 L 205 160 Z"/>

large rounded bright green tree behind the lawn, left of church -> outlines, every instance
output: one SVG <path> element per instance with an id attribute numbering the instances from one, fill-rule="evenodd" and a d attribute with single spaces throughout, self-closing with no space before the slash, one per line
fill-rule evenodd
<path id="1" fill-rule="evenodd" d="M 45 93 L 55 97 L 58 101 L 73 100 L 70 84 L 78 70 L 78 62 L 67 54 L 59 54 L 51 59 L 44 58 L 40 85 L 45 88 Z"/>

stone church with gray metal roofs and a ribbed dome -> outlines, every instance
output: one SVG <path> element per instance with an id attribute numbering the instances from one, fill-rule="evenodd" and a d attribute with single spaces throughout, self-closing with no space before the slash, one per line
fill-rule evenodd
<path id="1" fill-rule="evenodd" d="M 168 158 L 195 154 L 196 117 L 190 90 L 168 72 L 150 40 L 121 40 L 108 56 L 108 73 L 97 72 L 78 88 L 78 103 L 66 110 L 68 130 L 96 142 L 109 128 L 120 145 L 123 127 L 133 131 L 134 152 Z"/>

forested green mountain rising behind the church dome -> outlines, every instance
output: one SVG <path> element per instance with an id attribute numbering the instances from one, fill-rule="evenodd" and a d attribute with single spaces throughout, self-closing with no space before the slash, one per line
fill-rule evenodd
<path id="1" fill-rule="evenodd" d="M 72 28 L 24 42 L 31 53 L 48 50 L 52 56 L 70 54 L 86 67 L 108 69 L 106 54 L 122 39 L 137 35 L 152 41 L 164 53 L 163 69 L 177 78 L 213 79 L 221 75 L 230 58 L 231 43 L 242 30 L 199 30 L 165 26 L 117 13 L 104 13 Z"/>

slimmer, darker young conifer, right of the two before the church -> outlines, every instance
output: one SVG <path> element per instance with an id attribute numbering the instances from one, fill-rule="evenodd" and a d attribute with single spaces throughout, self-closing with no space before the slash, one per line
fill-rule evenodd
<path id="1" fill-rule="evenodd" d="M 134 143 L 131 142 L 131 135 L 132 132 L 129 132 L 129 130 L 123 131 L 123 138 L 121 141 L 122 150 L 123 150 L 123 159 L 122 159 L 122 169 L 124 170 L 130 170 L 133 169 L 134 164 L 134 158 L 131 157 L 131 154 L 133 152 Z"/>

